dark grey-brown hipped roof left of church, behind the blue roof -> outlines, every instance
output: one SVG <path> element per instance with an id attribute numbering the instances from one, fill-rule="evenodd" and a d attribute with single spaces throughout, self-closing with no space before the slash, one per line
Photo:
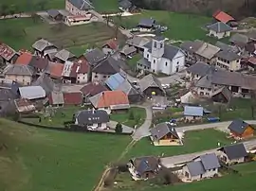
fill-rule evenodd
<path id="1" fill-rule="evenodd" d="M 92 69 L 92 72 L 102 75 L 114 75 L 116 73 L 119 73 L 119 71 L 119 61 L 116 61 L 115 59 L 113 59 L 113 57 L 108 57 Z"/>

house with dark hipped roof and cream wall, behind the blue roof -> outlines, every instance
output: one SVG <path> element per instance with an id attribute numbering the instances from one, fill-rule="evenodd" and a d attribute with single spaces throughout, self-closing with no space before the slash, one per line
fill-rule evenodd
<path id="1" fill-rule="evenodd" d="M 92 81 L 104 81 L 111 75 L 119 72 L 119 61 L 116 61 L 112 57 L 108 57 L 92 69 Z"/>

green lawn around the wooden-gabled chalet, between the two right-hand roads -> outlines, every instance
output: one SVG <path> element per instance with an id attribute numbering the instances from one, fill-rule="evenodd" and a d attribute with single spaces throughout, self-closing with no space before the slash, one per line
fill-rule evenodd
<path id="1" fill-rule="evenodd" d="M 183 140 L 183 146 L 155 147 L 151 144 L 149 138 L 144 138 L 131 149 L 126 158 L 149 155 L 161 156 L 163 153 L 164 156 L 192 153 L 217 148 L 218 142 L 224 146 L 229 145 L 231 140 L 226 137 L 224 132 L 213 129 L 187 131 Z"/>

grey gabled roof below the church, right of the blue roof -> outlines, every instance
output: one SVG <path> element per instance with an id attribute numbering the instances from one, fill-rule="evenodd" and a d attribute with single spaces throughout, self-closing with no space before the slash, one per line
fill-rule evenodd
<path id="1" fill-rule="evenodd" d="M 141 92 L 144 92 L 149 87 L 159 88 L 160 90 L 165 92 L 164 89 L 162 88 L 161 82 L 153 74 L 149 74 L 144 78 L 141 78 L 139 80 L 139 86 L 140 86 Z"/>

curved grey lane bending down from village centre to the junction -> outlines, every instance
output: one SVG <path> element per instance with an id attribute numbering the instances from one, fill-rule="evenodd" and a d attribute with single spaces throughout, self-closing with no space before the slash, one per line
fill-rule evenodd
<path id="1" fill-rule="evenodd" d="M 138 127 L 132 135 L 134 140 L 139 140 L 150 135 L 149 130 L 152 124 L 152 108 L 150 104 L 147 104 L 146 106 L 136 105 L 135 107 L 144 108 L 146 110 L 145 122 L 140 127 Z"/>

